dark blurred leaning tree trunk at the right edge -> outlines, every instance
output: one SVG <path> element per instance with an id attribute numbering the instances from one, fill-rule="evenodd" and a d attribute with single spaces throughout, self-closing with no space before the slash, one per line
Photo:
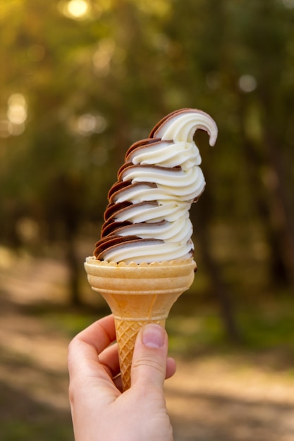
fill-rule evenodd
<path id="1" fill-rule="evenodd" d="M 269 273 L 274 284 L 294 287 L 294 221 L 291 220 L 286 185 L 283 182 L 281 152 L 274 137 L 264 136 L 266 155 L 259 152 L 245 129 L 246 104 L 240 97 L 239 123 L 247 161 L 248 183 L 257 213 L 271 250 Z"/>

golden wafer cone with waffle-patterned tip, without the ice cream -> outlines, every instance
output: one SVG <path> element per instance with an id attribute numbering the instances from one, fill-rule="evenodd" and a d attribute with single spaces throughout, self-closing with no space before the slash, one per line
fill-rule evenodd
<path id="1" fill-rule="evenodd" d="M 135 338 L 145 323 L 164 326 L 171 306 L 194 279 L 193 259 L 154 263 L 114 263 L 88 257 L 88 280 L 114 314 L 123 390 L 130 387 Z"/>

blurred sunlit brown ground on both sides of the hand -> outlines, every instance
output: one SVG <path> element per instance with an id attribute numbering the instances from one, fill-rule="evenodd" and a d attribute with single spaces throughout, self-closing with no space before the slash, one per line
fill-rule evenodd
<path id="1" fill-rule="evenodd" d="M 73 317 L 77 328 L 86 320 L 67 310 L 66 276 L 59 261 L 1 249 L 2 441 L 73 440 L 66 356 Z M 175 356 L 177 373 L 166 381 L 175 441 L 294 440 L 294 375 L 285 354 Z"/>

